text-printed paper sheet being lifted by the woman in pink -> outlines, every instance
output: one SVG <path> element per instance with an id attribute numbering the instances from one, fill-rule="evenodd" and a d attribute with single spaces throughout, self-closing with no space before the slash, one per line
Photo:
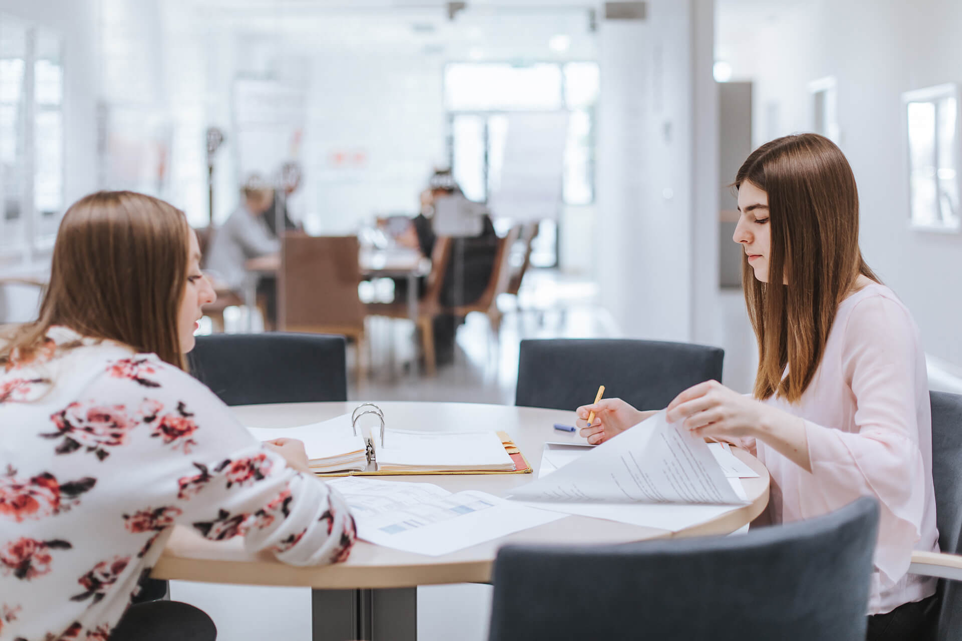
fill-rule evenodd
<path id="1" fill-rule="evenodd" d="M 525 502 L 743 505 L 707 444 L 661 411 L 511 498 Z"/>

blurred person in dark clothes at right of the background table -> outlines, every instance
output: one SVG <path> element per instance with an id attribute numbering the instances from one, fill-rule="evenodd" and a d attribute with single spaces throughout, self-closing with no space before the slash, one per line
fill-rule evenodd
<path id="1" fill-rule="evenodd" d="M 421 192 L 420 213 L 411 219 L 411 224 L 395 236 L 402 247 L 418 249 L 430 258 L 434 251 L 437 234 L 434 232 L 435 201 L 443 197 L 465 198 L 464 191 L 454 181 L 450 170 L 435 171 L 428 188 Z M 451 259 L 440 293 L 441 304 L 445 307 L 468 305 L 476 301 L 491 279 L 494 257 L 497 253 L 497 234 L 494 224 L 487 213 L 482 216 L 482 231 L 474 237 L 454 238 L 451 244 Z M 423 280 L 420 284 L 422 288 Z M 420 291 L 418 291 L 420 294 Z M 394 300 L 404 300 L 407 295 L 407 282 L 394 281 Z M 454 334 L 464 318 L 453 314 L 441 314 L 434 319 L 435 353 L 439 362 L 450 361 L 454 356 Z"/>

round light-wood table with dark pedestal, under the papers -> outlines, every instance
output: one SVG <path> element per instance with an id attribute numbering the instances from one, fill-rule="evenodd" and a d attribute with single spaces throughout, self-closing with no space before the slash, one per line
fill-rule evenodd
<path id="1" fill-rule="evenodd" d="M 359 404 L 245 406 L 235 407 L 235 412 L 241 423 L 249 427 L 283 428 L 333 418 L 350 412 Z M 584 442 L 574 433 L 554 429 L 555 423 L 573 425 L 574 412 L 571 411 L 468 403 L 385 402 L 377 405 L 384 410 L 388 427 L 394 429 L 507 431 L 533 471 L 532 474 L 376 477 L 383 481 L 430 482 L 451 492 L 475 489 L 501 496 L 513 487 L 538 478 L 545 441 Z M 757 479 L 742 480 L 750 503 L 679 532 L 567 516 L 443 556 L 417 555 L 359 540 L 344 563 L 300 568 L 279 563 L 266 553 L 249 555 L 243 550 L 239 538 L 225 542 L 208 541 L 191 530 L 177 527 L 152 576 L 218 583 L 309 586 L 314 588 L 315 641 L 345 638 L 413 640 L 417 635 L 417 586 L 488 582 L 497 549 L 505 543 L 614 544 L 738 530 L 768 504 L 769 474 L 753 456 L 732 451 L 759 474 Z"/>

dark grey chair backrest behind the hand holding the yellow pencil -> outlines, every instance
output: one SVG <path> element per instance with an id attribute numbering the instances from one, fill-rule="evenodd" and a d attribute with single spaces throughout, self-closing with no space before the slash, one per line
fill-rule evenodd
<path id="1" fill-rule="evenodd" d="M 605 397 L 661 409 L 688 387 L 722 381 L 719 347 L 626 338 L 522 340 L 515 405 L 574 409 Z"/>

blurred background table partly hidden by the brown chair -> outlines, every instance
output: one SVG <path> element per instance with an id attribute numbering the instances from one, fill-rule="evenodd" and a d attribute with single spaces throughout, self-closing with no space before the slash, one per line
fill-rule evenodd
<path id="1" fill-rule="evenodd" d="M 418 278 L 431 271 L 431 261 L 413 249 L 378 250 L 363 248 L 358 256 L 361 275 L 367 279 L 403 278 L 408 281 L 408 317 L 418 320 Z M 263 276 L 277 277 L 281 269 L 281 257 L 273 254 L 244 262 L 247 280 L 243 287 L 243 301 L 248 309 L 257 305 L 257 283 Z M 252 314 L 247 313 L 247 331 L 250 332 Z"/>

